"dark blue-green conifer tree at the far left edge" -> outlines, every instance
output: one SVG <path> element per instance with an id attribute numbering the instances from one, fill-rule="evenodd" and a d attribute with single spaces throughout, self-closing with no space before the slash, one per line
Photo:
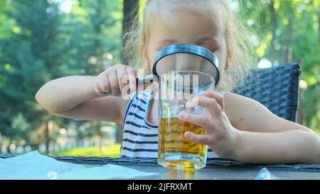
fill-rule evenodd
<path id="1" fill-rule="evenodd" d="M 57 40 L 58 6 L 47 1 L 6 2 L 12 6 L 6 14 L 14 19 L 15 26 L 9 38 L 1 39 L 1 62 L 6 64 L 1 68 L 1 131 L 13 141 L 21 136 L 12 132 L 15 118 L 25 118 L 28 129 L 33 130 L 39 129 L 48 115 L 38 109 L 34 95 L 50 79 L 47 70 L 55 75 L 55 64 L 63 50 Z"/>

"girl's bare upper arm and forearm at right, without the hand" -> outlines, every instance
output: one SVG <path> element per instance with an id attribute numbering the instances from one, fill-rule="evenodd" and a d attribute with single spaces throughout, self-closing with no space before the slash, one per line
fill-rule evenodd
<path id="1" fill-rule="evenodd" d="M 225 96 L 225 110 L 238 133 L 235 159 L 251 163 L 320 163 L 319 137 L 311 129 L 272 114 L 259 102 Z M 254 145 L 254 146 L 253 146 Z"/>

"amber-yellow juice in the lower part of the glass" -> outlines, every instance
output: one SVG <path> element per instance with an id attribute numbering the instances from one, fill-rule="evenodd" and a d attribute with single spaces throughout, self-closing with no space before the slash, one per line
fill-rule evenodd
<path id="1" fill-rule="evenodd" d="M 186 139 L 186 131 L 194 134 L 205 132 L 201 126 L 183 122 L 177 117 L 160 120 L 158 163 L 161 166 L 180 170 L 196 170 L 206 166 L 207 146 Z"/>

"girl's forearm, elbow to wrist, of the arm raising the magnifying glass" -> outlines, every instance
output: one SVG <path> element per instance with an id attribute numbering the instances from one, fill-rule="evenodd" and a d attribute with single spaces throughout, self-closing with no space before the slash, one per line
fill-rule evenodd
<path id="1" fill-rule="evenodd" d="M 66 112 L 100 97 L 93 87 L 95 79 L 95 76 L 70 76 L 52 80 L 38 90 L 36 100 L 50 112 Z"/>

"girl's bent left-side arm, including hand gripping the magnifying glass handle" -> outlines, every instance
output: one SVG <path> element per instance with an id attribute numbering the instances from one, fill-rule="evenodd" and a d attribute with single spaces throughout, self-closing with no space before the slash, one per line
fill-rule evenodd
<path id="1" fill-rule="evenodd" d="M 62 77 L 43 85 L 36 100 L 48 112 L 61 117 L 121 124 L 127 100 L 120 96 L 119 91 L 126 85 L 119 82 L 118 77 L 124 75 L 135 76 L 135 71 L 124 65 L 115 65 L 98 76 Z"/>

